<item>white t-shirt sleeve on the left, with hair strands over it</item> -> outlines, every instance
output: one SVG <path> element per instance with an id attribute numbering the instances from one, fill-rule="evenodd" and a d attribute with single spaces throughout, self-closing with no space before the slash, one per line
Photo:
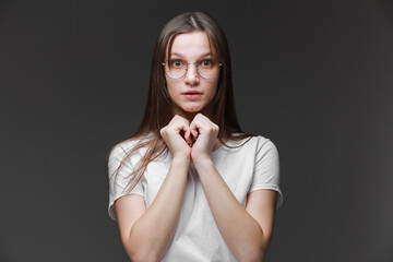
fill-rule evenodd
<path id="1" fill-rule="evenodd" d="M 143 194 L 143 177 L 136 183 L 136 186 L 130 191 L 128 190 L 128 184 L 130 181 L 130 175 L 133 171 L 133 163 L 130 157 L 124 159 L 127 151 L 121 145 L 116 145 L 109 154 L 108 158 L 108 179 L 109 179 L 109 205 L 108 213 L 109 216 L 116 221 L 116 211 L 115 211 L 115 201 L 119 198 L 127 194 Z M 124 160 L 123 165 L 117 170 Z M 117 172 L 118 171 L 118 172 Z"/>

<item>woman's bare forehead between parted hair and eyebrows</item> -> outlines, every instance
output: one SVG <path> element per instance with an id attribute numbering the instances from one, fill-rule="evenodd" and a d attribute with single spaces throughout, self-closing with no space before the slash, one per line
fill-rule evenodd
<path id="1" fill-rule="evenodd" d="M 205 32 L 192 32 L 179 34 L 175 37 L 171 46 L 171 55 L 183 57 L 198 57 L 212 52 L 210 41 Z"/>

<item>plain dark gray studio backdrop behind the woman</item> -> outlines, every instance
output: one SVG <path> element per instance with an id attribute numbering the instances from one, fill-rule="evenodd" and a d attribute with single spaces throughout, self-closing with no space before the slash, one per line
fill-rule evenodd
<path id="1" fill-rule="evenodd" d="M 105 158 L 135 131 L 155 37 L 205 11 L 242 128 L 270 138 L 272 261 L 393 261 L 392 1 L 1 1 L 0 261 L 127 261 Z"/>

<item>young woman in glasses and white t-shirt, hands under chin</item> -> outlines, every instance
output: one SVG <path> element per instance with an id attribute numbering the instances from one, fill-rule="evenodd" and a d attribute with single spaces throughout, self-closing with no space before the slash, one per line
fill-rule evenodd
<path id="1" fill-rule="evenodd" d="M 160 32 L 136 134 L 108 157 L 132 261 L 261 261 L 282 203 L 274 144 L 241 131 L 226 37 L 204 13 Z"/>

